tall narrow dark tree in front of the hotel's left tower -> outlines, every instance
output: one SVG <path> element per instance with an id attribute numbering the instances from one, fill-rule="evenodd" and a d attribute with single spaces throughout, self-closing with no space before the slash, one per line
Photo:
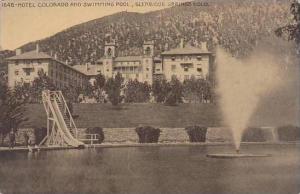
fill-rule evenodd
<path id="1" fill-rule="evenodd" d="M 109 78 L 105 84 L 104 89 L 108 95 L 108 99 L 114 106 L 122 101 L 121 89 L 123 88 L 123 81 L 122 75 L 117 73 L 115 77 Z"/>

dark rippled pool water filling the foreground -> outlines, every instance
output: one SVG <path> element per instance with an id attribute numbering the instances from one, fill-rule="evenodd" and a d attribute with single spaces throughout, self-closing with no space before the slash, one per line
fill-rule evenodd
<path id="1" fill-rule="evenodd" d="M 214 159 L 231 146 L 0 153 L 2 193 L 298 193 L 300 145 L 243 145 L 268 158 Z"/>

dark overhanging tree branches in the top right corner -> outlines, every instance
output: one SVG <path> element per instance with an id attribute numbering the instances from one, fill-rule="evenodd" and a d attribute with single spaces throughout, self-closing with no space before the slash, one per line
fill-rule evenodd
<path id="1" fill-rule="evenodd" d="M 290 11 L 293 15 L 294 23 L 278 28 L 275 33 L 277 36 L 288 35 L 289 40 L 294 40 L 300 52 L 300 3 L 294 0 L 291 4 Z"/>

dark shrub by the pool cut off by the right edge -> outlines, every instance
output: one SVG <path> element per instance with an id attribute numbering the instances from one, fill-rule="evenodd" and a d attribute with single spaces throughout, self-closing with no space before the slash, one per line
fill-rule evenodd
<path id="1" fill-rule="evenodd" d="M 280 141 L 299 141 L 300 140 L 300 127 L 287 125 L 277 129 L 278 139 Z"/>

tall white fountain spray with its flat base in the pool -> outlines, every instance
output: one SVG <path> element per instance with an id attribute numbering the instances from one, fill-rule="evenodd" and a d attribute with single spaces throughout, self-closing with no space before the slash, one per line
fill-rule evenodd
<path id="1" fill-rule="evenodd" d="M 278 87 L 280 65 L 274 56 L 263 52 L 247 59 L 236 59 L 223 49 L 217 49 L 217 93 L 225 124 L 231 129 L 235 153 L 209 154 L 208 157 L 258 157 L 240 152 L 243 132 L 260 100 Z"/>

